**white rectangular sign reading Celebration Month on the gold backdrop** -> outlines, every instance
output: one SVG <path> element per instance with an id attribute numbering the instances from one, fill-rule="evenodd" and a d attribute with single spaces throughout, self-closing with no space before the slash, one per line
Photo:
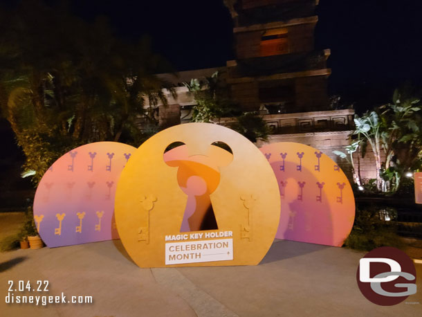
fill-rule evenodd
<path id="1" fill-rule="evenodd" d="M 165 265 L 233 260 L 233 239 L 165 244 Z"/>

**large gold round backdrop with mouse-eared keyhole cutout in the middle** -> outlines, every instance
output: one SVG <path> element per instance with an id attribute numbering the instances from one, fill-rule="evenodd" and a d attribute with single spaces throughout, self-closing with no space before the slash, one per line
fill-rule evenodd
<path id="1" fill-rule="evenodd" d="M 279 210 L 265 156 L 244 136 L 210 123 L 149 138 L 116 191 L 118 233 L 140 267 L 258 264 L 273 243 Z"/>

